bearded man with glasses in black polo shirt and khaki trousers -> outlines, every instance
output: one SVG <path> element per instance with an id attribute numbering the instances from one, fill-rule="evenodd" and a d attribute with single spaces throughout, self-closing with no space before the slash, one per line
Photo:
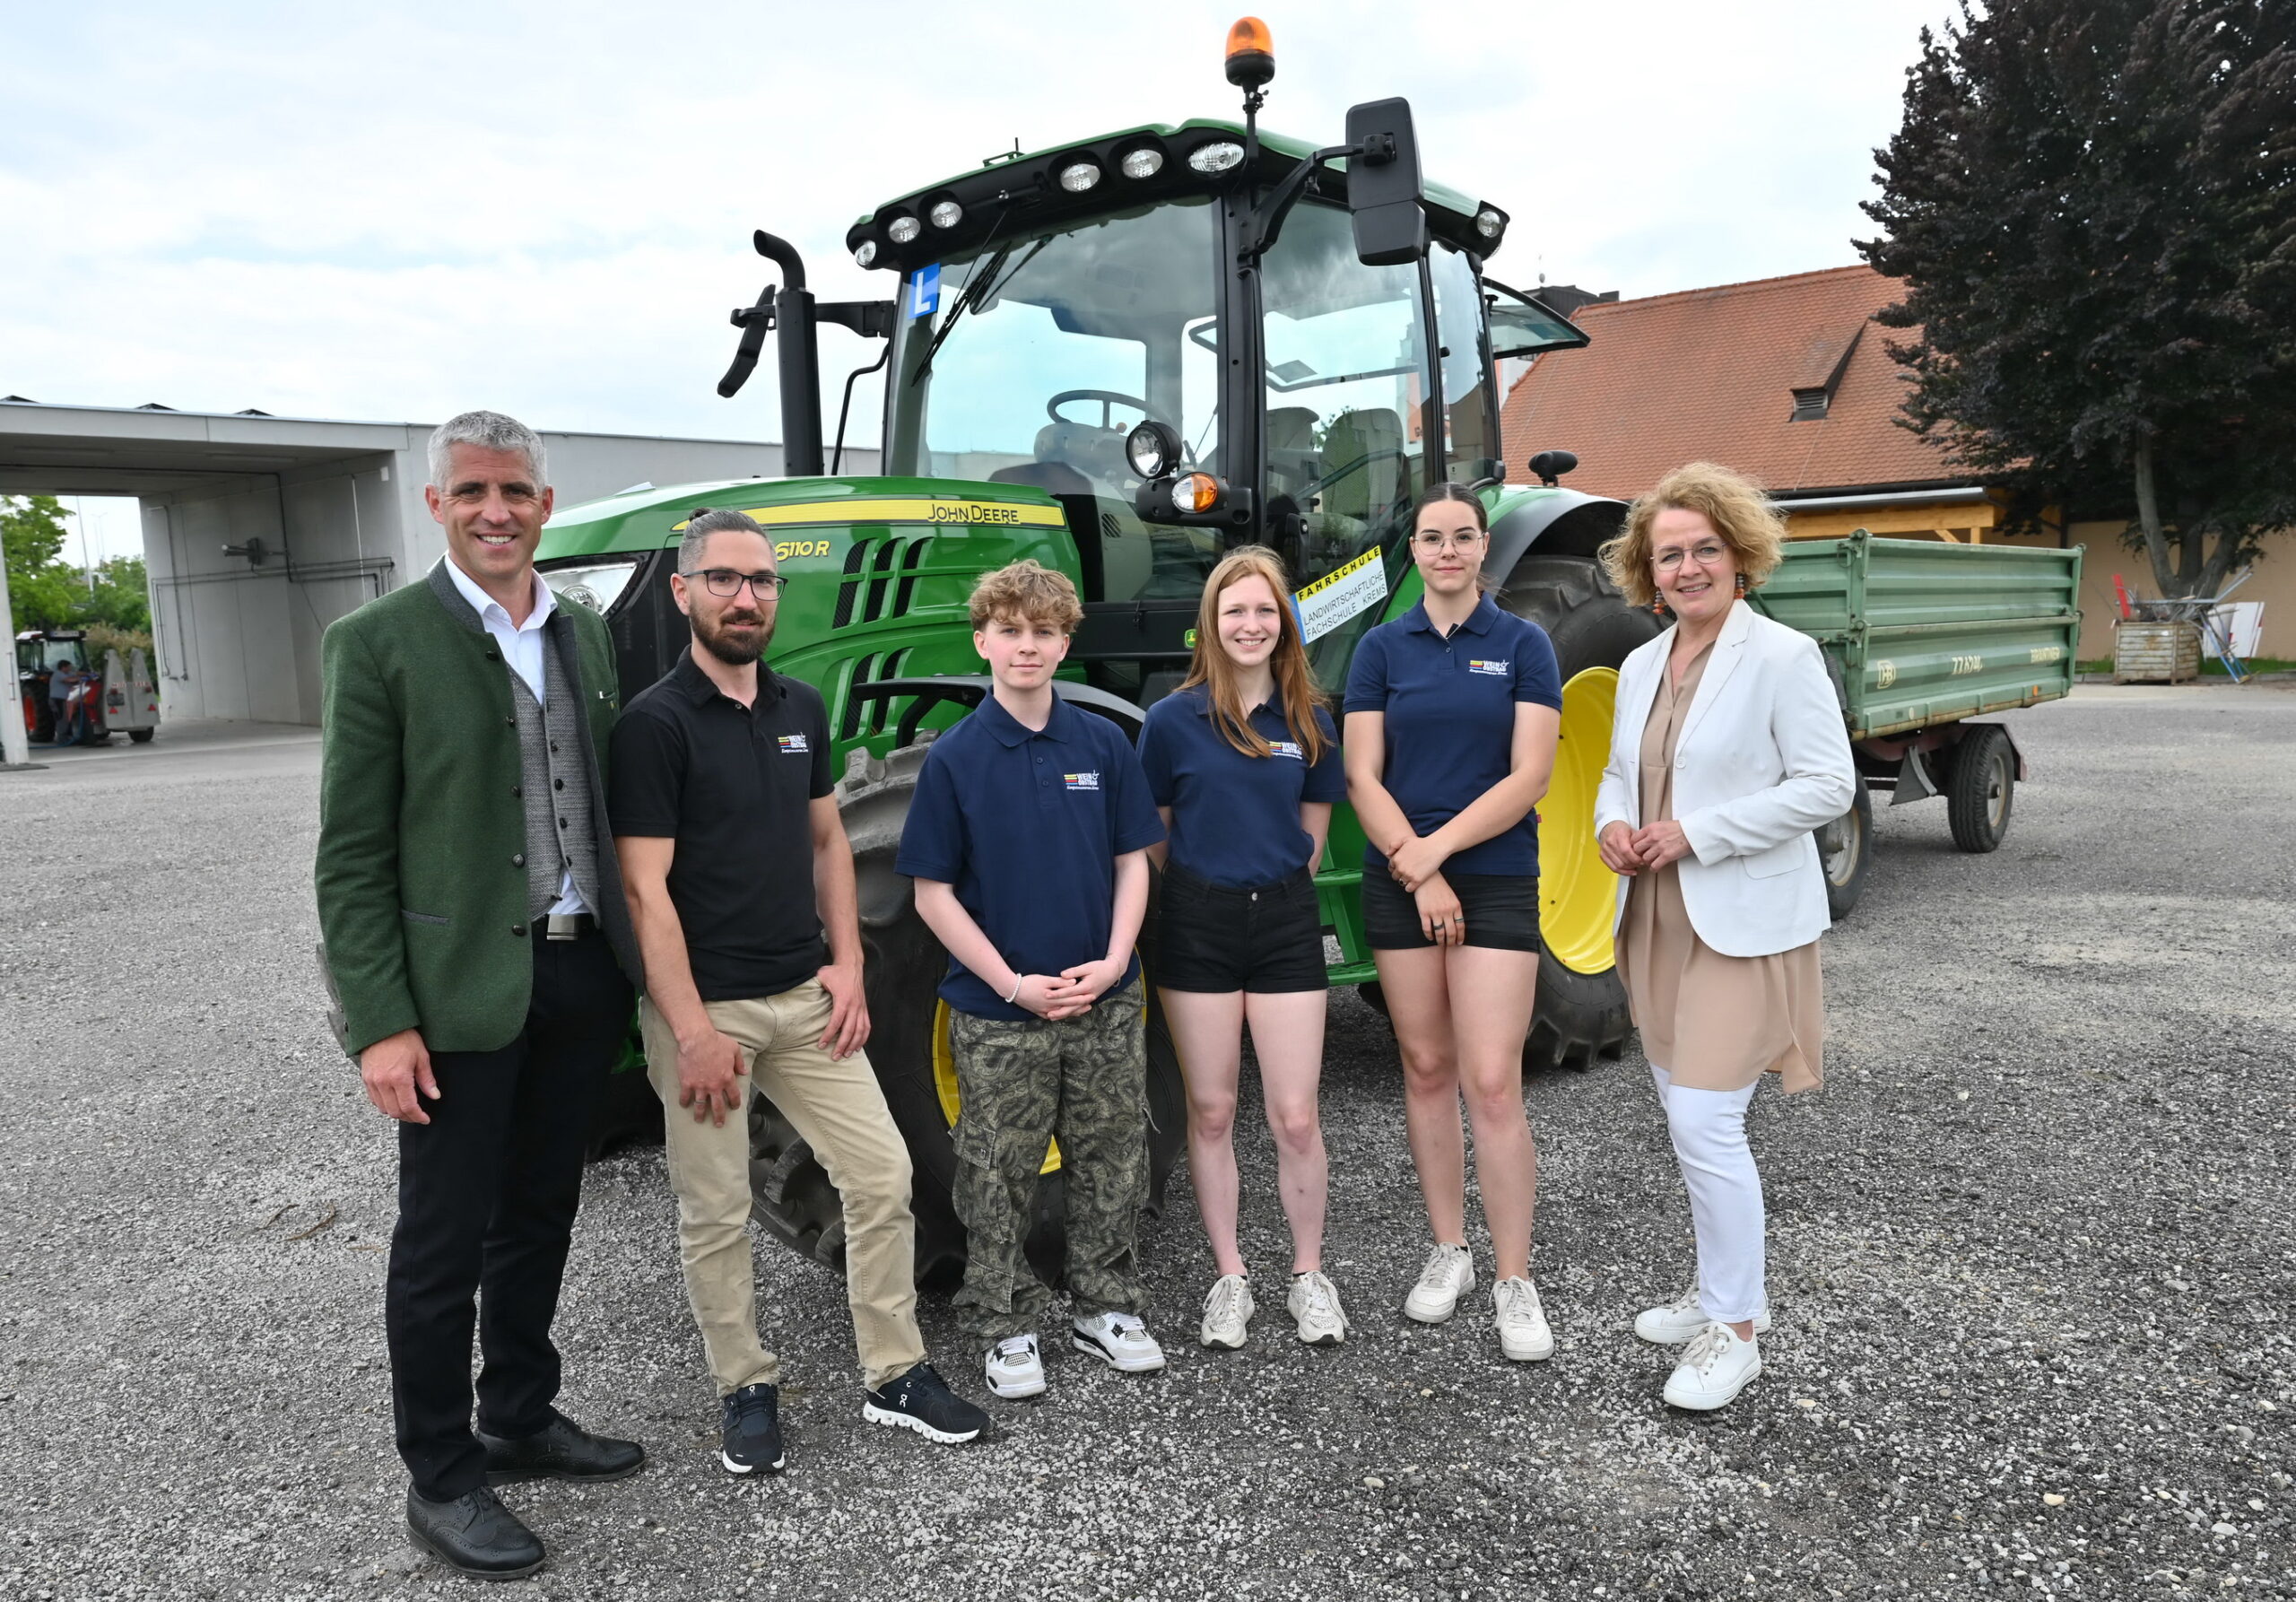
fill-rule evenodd
<path id="1" fill-rule="evenodd" d="M 861 1416 L 951 1446 L 987 1428 L 916 1331 L 909 1152 L 861 1053 L 861 920 L 829 716 L 820 691 L 758 661 L 781 585 L 758 523 L 693 514 L 670 578 L 693 645 L 622 709 L 608 803 L 645 952 L 641 1019 L 668 1111 L 677 1246 L 730 1473 L 783 1464 L 781 1363 L 758 1340 L 746 1232 L 753 1090 L 806 1138 L 845 1207 Z"/>

